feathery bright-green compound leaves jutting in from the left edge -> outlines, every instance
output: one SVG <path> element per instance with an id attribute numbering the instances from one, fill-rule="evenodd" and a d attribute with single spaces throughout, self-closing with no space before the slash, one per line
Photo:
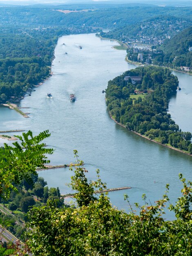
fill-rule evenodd
<path id="1" fill-rule="evenodd" d="M 16 136 L 13 146 L 4 144 L 0 148 L 0 197 L 7 200 L 11 190 L 18 191 L 17 185 L 25 178 L 31 182 L 29 173 L 36 174 L 36 168 L 45 168 L 44 164 L 49 163 L 46 154 L 52 154 L 53 149 L 45 148 L 41 141 L 50 136 L 49 131 L 40 132 L 33 136 L 31 131 Z"/>

